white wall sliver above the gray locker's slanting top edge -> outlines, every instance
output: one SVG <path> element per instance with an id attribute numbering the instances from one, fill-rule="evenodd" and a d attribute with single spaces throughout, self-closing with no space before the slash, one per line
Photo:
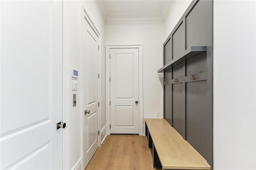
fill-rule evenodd
<path id="1" fill-rule="evenodd" d="M 164 22 L 164 41 L 170 35 L 192 0 L 175 0 Z"/>

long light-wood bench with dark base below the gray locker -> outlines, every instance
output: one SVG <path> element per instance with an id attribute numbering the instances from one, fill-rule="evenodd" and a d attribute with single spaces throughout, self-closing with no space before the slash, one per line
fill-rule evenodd
<path id="1" fill-rule="evenodd" d="M 163 170 L 210 170 L 207 161 L 167 123 L 165 119 L 145 119 L 153 166 Z"/>

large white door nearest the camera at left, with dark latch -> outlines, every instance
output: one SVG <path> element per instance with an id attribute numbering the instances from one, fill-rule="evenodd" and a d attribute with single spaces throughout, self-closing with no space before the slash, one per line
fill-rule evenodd
<path id="1" fill-rule="evenodd" d="M 1 1 L 0 169 L 61 169 L 62 1 Z"/>

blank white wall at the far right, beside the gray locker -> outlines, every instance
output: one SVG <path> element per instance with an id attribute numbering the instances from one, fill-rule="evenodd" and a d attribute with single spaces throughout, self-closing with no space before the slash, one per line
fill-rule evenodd
<path id="1" fill-rule="evenodd" d="M 214 1 L 214 169 L 256 169 L 256 1 Z"/>

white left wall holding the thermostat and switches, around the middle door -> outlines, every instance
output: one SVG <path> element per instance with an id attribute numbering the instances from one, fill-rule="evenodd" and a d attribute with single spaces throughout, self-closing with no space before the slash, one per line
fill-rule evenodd
<path id="1" fill-rule="evenodd" d="M 80 15 L 81 5 L 84 6 L 86 12 L 94 22 L 94 25 L 100 32 L 101 42 L 101 61 L 100 61 L 100 82 L 101 82 L 101 127 L 106 125 L 106 90 L 105 90 L 105 25 L 96 6 L 95 1 L 64 1 L 63 5 L 63 121 L 67 126 L 63 130 L 63 169 L 75 168 L 75 165 L 82 158 L 82 111 L 80 110 L 80 77 L 78 77 L 78 90 L 72 91 L 71 69 L 80 68 Z M 72 94 L 76 93 L 76 107 L 72 107 Z M 100 129 L 101 129 L 100 127 Z M 82 166 L 79 167 L 79 169 Z"/>

